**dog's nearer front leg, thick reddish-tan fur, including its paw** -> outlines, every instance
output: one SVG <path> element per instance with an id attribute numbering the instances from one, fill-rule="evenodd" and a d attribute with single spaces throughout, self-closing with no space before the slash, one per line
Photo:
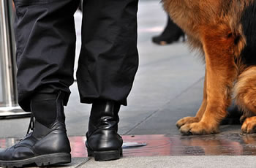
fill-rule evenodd
<path id="1" fill-rule="evenodd" d="M 203 28 L 203 49 L 206 53 L 207 105 L 198 123 L 181 126 L 183 134 L 215 134 L 227 115 L 230 90 L 237 76 L 234 62 L 234 37 L 223 26 Z"/>

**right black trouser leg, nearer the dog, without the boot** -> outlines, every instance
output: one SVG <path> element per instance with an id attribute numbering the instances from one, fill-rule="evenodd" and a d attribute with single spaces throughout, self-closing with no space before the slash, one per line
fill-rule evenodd
<path id="1" fill-rule="evenodd" d="M 83 103 L 127 104 L 138 69 L 138 0 L 85 0 L 78 88 Z"/>

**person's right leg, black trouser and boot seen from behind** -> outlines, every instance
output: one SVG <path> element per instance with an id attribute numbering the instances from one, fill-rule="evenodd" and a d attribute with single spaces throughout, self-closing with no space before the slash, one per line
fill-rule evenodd
<path id="1" fill-rule="evenodd" d="M 138 69 L 138 0 L 87 0 L 83 3 L 82 48 L 78 65 L 80 101 L 93 103 L 87 132 L 89 156 L 119 159 L 120 105 L 127 105 Z"/>

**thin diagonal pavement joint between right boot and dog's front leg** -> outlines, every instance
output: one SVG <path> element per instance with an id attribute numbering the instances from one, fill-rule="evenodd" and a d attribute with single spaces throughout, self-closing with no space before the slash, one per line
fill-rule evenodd
<path id="1" fill-rule="evenodd" d="M 181 93 L 179 93 L 177 96 L 173 97 L 173 99 L 170 99 L 168 102 L 166 102 L 162 107 L 160 107 L 158 110 L 155 110 L 154 112 L 152 112 L 150 115 L 148 115 L 146 118 L 144 118 L 142 121 L 140 121 L 139 123 L 137 123 L 134 127 L 132 127 L 132 129 L 129 129 L 128 131 L 126 131 L 124 133 L 124 135 L 129 134 L 131 131 L 135 130 L 136 128 L 138 128 L 138 126 L 140 126 L 141 123 L 145 123 L 146 121 L 148 121 L 149 118 L 151 118 L 152 116 L 154 116 L 155 114 L 157 114 L 157 112 L 163 110 L 165 107 L 167 107 L 167 104 L 170 104 L 170 102 L 172 102 L 174 99 L 177 99 L 179 96 L 181 96 L 183 93 L 186 93 L 190 88 L 192 88 L 194 85 L 197 85 L 197 83 L 200 83 L 201 80 L 203 80 L 204 77 L 200 77 L 199 80 L 197 80 L 195 83 L 192 83 L 192 85 L 190 85 L 188 88 L 184 89 L 184 91 L 181 91 Z"/>

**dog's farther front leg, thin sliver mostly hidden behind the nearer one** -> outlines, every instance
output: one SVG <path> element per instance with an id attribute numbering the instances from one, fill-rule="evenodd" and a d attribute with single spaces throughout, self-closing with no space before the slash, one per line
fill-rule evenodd
<path id="1" fill-rule="evenodd" d="M 181 118 L 176 123 L 176 126 L 178 127 L 178 129 L 181 128 L 181 126 L 184 126 L 187 123 L 198 123 L 201 120 L 201 118 L 203 117 L 203 113 L 206 111 L 206 106 L 207 106 L 206 76 L 207 75 L 205 75 L 205 80 L 204 80 L 204 84 L 203 84 L 203 102 L 202 102 L 199 110 L 197 111 L 197 115 L 195 117 Z"/>

